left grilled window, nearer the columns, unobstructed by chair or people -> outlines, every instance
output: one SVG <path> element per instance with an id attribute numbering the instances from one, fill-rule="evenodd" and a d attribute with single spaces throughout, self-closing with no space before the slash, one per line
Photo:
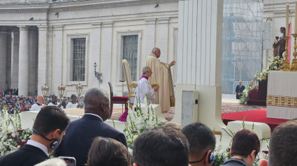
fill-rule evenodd
<path id="1" fill-rule="evenodd" d="M 85 81 L 85 38 L 73 38 L 72 81 Z"/>

